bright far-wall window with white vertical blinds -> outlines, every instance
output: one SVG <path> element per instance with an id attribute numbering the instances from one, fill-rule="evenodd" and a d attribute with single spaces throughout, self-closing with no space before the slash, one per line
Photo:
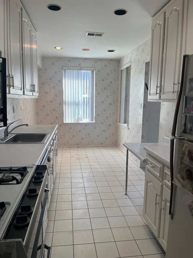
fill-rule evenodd
<path id="1" fill-rule="evenodd" d="M 95 70 L 92 67 L 63 67 L 64 123 L 93 123 L 95 120 Z"/>

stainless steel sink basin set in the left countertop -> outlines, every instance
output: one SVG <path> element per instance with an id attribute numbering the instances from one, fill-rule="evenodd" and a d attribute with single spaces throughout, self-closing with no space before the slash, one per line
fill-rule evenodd
<path id="1" fill-rule="evenodd" d="M 9 137 L 4 143 L 44 143 L 48 136 L 49 133 L 18 133 Z"/>

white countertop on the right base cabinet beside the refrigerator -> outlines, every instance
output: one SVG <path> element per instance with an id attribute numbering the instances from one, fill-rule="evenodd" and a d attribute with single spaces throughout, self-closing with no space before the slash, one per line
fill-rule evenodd
<path id="1" fill-rule="evenodd" d="M 144 146 L 144 150 L 169 167 L 170 145 L 165 143 L 151 143 L 150 146 Z"/>

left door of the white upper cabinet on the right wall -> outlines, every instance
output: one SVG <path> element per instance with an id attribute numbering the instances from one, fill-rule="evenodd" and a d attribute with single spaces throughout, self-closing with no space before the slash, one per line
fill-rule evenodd
<path id="1" fill-rule="evenodd" d="M 152 21 L 151 25 L 150 75 L 148 90 L 148 99 L 150 100 L 160 99 L 165 15 L 165 12 L 160 14 Z"/>

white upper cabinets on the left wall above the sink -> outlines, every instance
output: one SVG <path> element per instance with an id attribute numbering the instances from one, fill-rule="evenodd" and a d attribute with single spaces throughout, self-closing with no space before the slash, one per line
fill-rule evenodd
<path id="1" fill-rule="evenodd" d="M 37 97 L 37 36 L 19 0 L 5 1 L 4 21 L 7 96 Z"/>

